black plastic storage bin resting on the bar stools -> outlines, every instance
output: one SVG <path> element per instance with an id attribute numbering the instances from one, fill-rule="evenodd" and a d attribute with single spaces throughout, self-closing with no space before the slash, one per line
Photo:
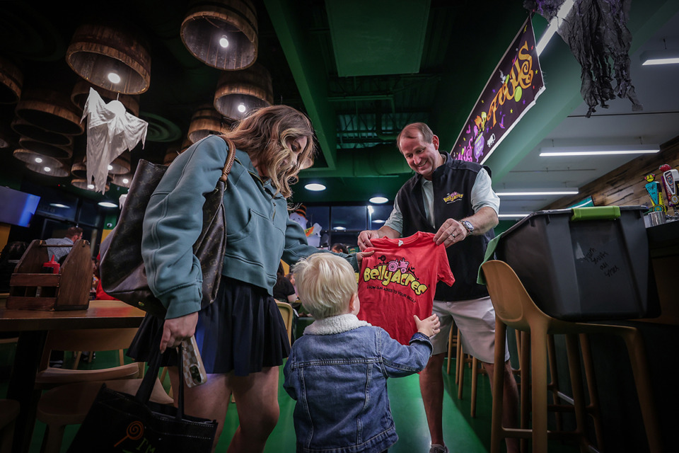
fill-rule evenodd
<path id="1" fill-rule="evenodd" d="M 608 206 L 533 212 L 504 232 L 497 256 L 554 318 L 658 316 L 646 210 Z"/>

